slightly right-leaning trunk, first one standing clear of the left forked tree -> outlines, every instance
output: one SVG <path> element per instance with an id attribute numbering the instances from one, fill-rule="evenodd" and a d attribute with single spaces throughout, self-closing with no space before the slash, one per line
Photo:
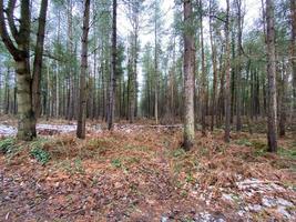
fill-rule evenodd
<path id="1" fill-rule="evenodd" d="M 81 70 L 80 70 L 80 105 L 78 114 L 76 135 L 80 139 L 85 139 L 85 119 L 86 119 L 86 83 L 88 74 L 88 37 L 90 23 L 90 0 L 84 0 L 83 28 L 81 39 Z"/>

